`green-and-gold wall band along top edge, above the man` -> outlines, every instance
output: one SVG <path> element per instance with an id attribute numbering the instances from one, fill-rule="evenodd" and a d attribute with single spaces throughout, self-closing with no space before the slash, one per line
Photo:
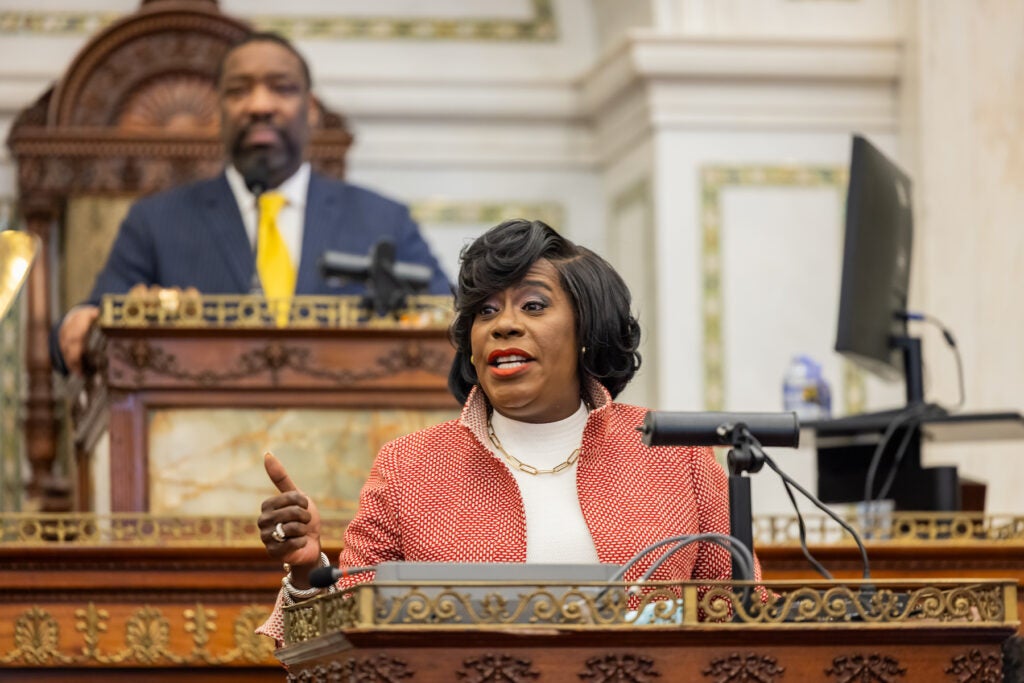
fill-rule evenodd
<path id="1" fill-rule="evenodd" d="M 247 15 L 261 31 L 297 40 L 421 40 L 485 42 L 553 42 L 558 22 L 553 0 L 529 0 L 524 18 L 442 18 L 430 16 Z M 92 35 L 122 18 L 115 12 L 6 10 L 0 34 Z"/>

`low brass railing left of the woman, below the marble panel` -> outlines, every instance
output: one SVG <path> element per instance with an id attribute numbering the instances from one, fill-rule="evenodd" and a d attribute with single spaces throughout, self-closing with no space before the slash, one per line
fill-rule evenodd
<path id="1" fill-rule="evenodd" d="M 325 514 L 325 538 L 341 539 L 348 517 Z M 0 515 L 0 547 L 253 548 L 261 547 L 256 515 L 166 516 L 146 513 L 8 513 Z"/>

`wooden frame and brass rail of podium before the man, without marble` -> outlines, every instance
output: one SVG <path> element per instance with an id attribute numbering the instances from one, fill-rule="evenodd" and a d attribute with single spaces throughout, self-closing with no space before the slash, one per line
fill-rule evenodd
<path id="1" fill-rule="evenodd" d="M 78 509 L 94 510 L 95 483 L 106 485 L 90 459 L 109 429 L 110 511 L 155 510 L 153 416 L 160 411 L 404 409 L 457 415 L 446 385 L 454 353 L 446 334 L 451 299 L 419 297 L 396 317 L 372 319 L 359 303 L 357 297 L 296 297 L 288 302 L 289 324 L 278 327 L 273 302 L 259 297 L 189 297 L 166 290 L 159 296 L 105 297 L 86 358 L 92 372 L 75 388 Z M 187 432 L 187 426 L 178 431 Z M 246 447 L 261 469 L 260 445 Z M 374 453 L 362 454 L 360 462 L 369 463 Z M 202 464 L 213 460 L 211 455 Z M 243 509 L 258 510 L 258 501 Z"/>

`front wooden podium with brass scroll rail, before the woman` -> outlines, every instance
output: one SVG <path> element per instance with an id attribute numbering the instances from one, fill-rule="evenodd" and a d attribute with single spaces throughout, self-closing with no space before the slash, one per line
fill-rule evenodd
<path id="1" fill-rule="evenodd" d="M 488 600 L 478 584 L 364 585 L 287 608 L 276 654 L 303 682 L 996 683 L 1018 626 L 1013 582 L 791 582 L 753 603 L 738 584 L 642 602 L 598 586 L 495 584 Z M 660 624 L 629 611 L 667 598 Z"/>

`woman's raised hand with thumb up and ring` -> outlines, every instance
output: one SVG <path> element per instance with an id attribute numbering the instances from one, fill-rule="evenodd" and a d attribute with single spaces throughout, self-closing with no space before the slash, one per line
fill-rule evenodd
<path id="1" fill-rule="evenodd" d="M 271 454 L 264 454 L 263 467 L 281 493 L 263 501 L 257 522 L 260 541 L 270 557 L 292 565 L 293 575 L 305 575 L 321 561 L 316 504 L 295 485 L 285 466 Z"/>

